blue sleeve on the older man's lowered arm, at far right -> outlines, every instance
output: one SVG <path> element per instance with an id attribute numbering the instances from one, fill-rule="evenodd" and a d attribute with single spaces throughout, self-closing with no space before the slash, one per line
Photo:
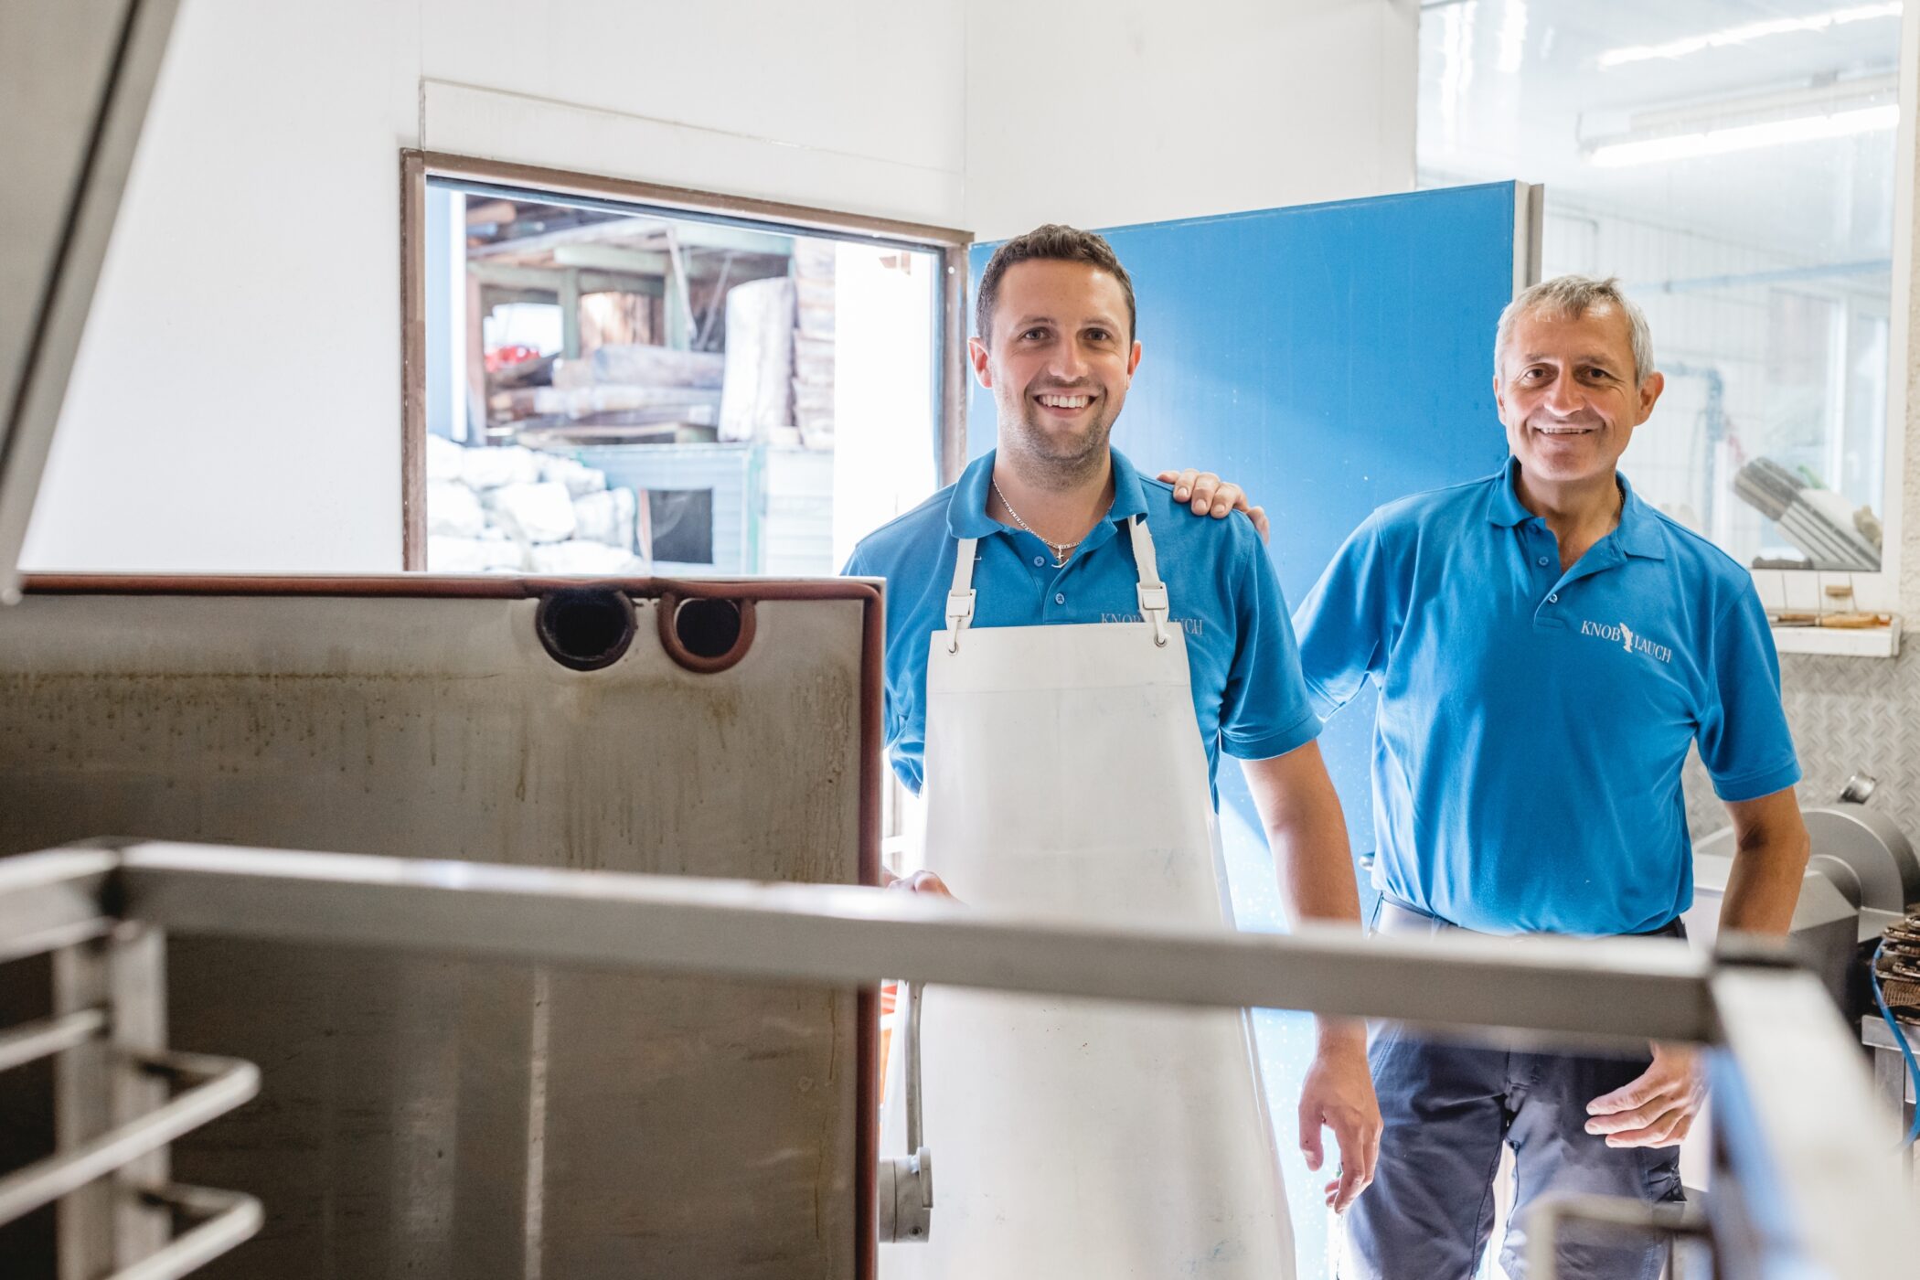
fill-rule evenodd
<path id="1" fill-rule="evenodd" d="M 1780 706 L 1780 654 L 1753 583 L 1713 628 L 1699 758 L 1722 800 L 1757 800 L 1799 781 L 1799 758 Z"/>

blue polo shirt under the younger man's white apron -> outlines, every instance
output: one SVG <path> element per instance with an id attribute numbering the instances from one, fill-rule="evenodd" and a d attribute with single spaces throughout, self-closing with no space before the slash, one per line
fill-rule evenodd
<path id="1" fill-rule="evenodd" d="M 1242 760 L 1284 756 L 1319 733 L 1300 681 L 1300 654 L 1286 601 L 1252 522 L 1194 516 L 1173 486 L 1146 480 L 1114 449 L 1114 509 L 1087 533 L 1066 568 L 1033 533 L 987 516 L 989 453 L 960 482 L 868 533 L 847 568 L 887 580 L 887 750 L 912 791 L 924 779 L 927 743 L 927 645 L 947 628 L 960 537 L 977 537 L 975 628 L 1139 622 L 1140 578 L 1125 522 L 1144 514 L 1167 583 L 1173 622 L 1187 631 L 1194 722 L 1208 777 L 1221 748 Z M 1217 793 L 1215 793 L 1217 800 Z"/>

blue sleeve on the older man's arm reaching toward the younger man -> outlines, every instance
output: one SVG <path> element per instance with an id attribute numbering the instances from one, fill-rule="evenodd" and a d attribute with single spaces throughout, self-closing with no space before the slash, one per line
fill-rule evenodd
<path id="1" fill-rule="evenodd" d="M 1327 720 L 1386 670 L 1386 553 L 1379 512 L 1354 530 L 1294 610 L 1300 672 L 1313 712 Z"/>

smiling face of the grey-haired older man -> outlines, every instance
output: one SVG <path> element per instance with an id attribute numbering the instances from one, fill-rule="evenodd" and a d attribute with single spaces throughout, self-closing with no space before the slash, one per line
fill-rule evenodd
<path id="1" fill-rule="evenodd" d="M 1661 384 L 1659 374 L 1634 368 L 1626 315 L 1601 303 L 1576 317 L 1517 317 L 1500 353 L 1494 397 L 1523 474 L 1578 484 L 1613 476 Z"/>

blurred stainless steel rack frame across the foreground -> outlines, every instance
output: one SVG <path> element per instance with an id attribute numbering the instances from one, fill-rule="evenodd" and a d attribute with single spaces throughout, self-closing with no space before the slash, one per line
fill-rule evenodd
<path id="1" fill-rule="evenodd" d="M 98 1123 L 98 1103 L 81 1105 L 77 1086 L 63 1088 L 61 1150 L 0 1182 L 8 1211 L 61 1196 L 61 1247 L 121 1249 L 115 1265 L 129 1267 L 121 1280 L 184 1274 L 196 1238 L 204 1244 L 194 1257 L 204 1261 L 205 1249 L 242 1240 L 259 1221 L 259 1207 L 244 1197 L 169 1192 L 163 1167 L 152 1165 L 163 1161 L 167 1140 L 238 1105 L 255 1084 L 244 1063 L 215 1067 L 146 1042 L 142 1009 L 150 1015 L 163 990 L 159 931 L 828 986 L 891 975 L 1098 1000 L 1315 1009 L 1480 1040 L 1697 1042 L 1713 1048 L 1720 1117 L 1705 1221 L 1720 1274 L 1878 1280 L 1905 1274 L 1920 1257 L 1920 1222 L 1860 1050 L 1820 983 L 1791 967 L 1778 946 L 1730 940 L 1740 950 L 1707 960 L 1632 938 L 1110 927 L 866 889 L 196 844 L 25 854 L 0 862 L 0 958 L 104 946 L 108 958 L 88 963 L 106 973 L 119 948 L 144 954 L 119 956 L 119 1002 L 86 998 L 102 977 L 79 965 L 56 1017 L 10 1032 L 0 1061 L 23 1061 L 23 1054 L 75 1059 L 111 1046 L 123 1077 L 150 1075 L 156 1063 L 200 1067 L 190 1071 L 202 1080 L 196 1088 L 111 1125 Z M 144 992 L 134 981 L 140 973 L 150 975 Z M 132 1163 L 109 1173 L 121 1159 Z M 144 1174 L 140 1161 L 148 1161 Z M 94 1182 L 77 1186 L 83 1174 Z M 117 1217 L 67 1213 L 100 1182 L 115 1180 L 123 1184 L 119 1201 L 109 1199 Z M 142 1207 L 169 1194 L 211 1221 L 171 1244 L 156 1242 L 148 1224 L 144 1244 L 129 1245 L 129 1219 L 138 1228 Z M 1607 1213 L 1582 1205 L 1559 1217 Z M 1697 1215 L 1676 1226 L 1701 1230 Z M 146 1257 L 138 1247 L 152 1255 L 148 1263 L 138 1263 Z M 138 1268 L 159 1265 L 161 1249 L 173 1261 Z"/>

